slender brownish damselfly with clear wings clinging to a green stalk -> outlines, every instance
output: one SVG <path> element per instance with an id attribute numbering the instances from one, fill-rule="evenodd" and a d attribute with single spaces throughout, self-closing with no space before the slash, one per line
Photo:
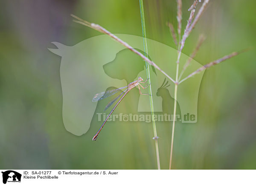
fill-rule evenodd
<path id="1" fill-rule="evenodd" d="M 114 95 L 120 91 L 122 91 L 122 89 L 125 89 L 125 91 L 123 91 L 122 93 L 120 93 L 116 98 L 114 98 L 112 101 L 110 101 L 106 107 L 105 107 L 105 110 L 108 109 L 108 107 L 110 107 L 118 98 L 121 98 L 119 99 L 119 101 L 116 103 L 115 107 L 111 110 L 111 112 L 109 113 L 108 117 L 105 119 L 104 123 L 102 124 L 102 126 L 99 128 L 99 131 L 93 136 L 93 141 L 95 141 L 100 133 L 100 131 L 102 130 L 102 128 L 104 127 L 105 123 L 108 121 L 108 118 L 109 116 L 113 113 L 113 111 L 116 109 L 117 105 L 122 101 L 122 99 L 125 97 L 125 95 L 127 95 L 127 93 L 132 90 L 134 87 L 138 86 L 138 89 L 139 89 L 139 92 L 141 95 L 150 95 L 150 94 L 143 94 L 141 93 L 141 90 L 140 90 L 140 87 L 145 89 L 149 86 L 146 85 L 145 87 L 143 87 L 141 84 L 145 84 L 146 82 L 148 81 L 148 79 L 146 79 L 145 82 L 143 82 L 143 79 L 141 77 L 138 78 L 138 80 L 136 81 L 133 81 L 131 82 L 130 84 L 128 84 L 128 86 L 125 86 L 125 87 L 120 87 L 118 89 L 114 89 L 114 90 L 109 90 L 109 91 L 106 91 L 106 92 L 102 92 L 102 93 L 98 93 L 96 94 L 94 97 L 93 97 L 93 101 L 99 101 L 99 100 L 102 100 L 104 98 L 108 98 L 109 96 L 111 95 Z"/>

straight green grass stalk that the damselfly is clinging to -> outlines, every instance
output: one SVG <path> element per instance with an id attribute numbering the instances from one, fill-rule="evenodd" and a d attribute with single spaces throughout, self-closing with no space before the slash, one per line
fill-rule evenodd
<path id="1" fill-rule="evenodd" d="M 141 18 L 141 27 L 142 27 L 142 35 L 143 35 L 143 45 L 144 45 L 144 52 L 146 57 L 148 58 L 148 45 L 147 45 L 147 38 L 146 38 L 146 28 L 145 28 L 145 17 L 144 17 L 144 8 L 143 8 L 143 0 L 140 1 L 140 18 Z M 147 73 L 147 78 L 149 82 L 149 88 L 148 88 L 148 93 L 151 95 L 149 96 L 149 101 L 150 101 L 150 109 L 151 109 L 151 116 L 154 118 L 154 105 L 153 105 L 153 97 L 152 97 L 152 89 L 151 89 L 151 82 L 150 82 L 150 71 L 149 71 L 149 64 L 148 62 L 145 61 L 145 66 L 146 66 L 146 73 Z M 156 127 L 156 122 L 154 119 L 152 119 L 153 123 L 153 130 L 154 130 L 154 137 L 153 139 L 155 140 L 155 147 L 156 147 L 156 155 L 157 155 L 157 169 L 160 170 L 160 158 L 159 158 L 159 150 L 158 150 L 158 137 L 157 137 L 157 127 Z"/>

